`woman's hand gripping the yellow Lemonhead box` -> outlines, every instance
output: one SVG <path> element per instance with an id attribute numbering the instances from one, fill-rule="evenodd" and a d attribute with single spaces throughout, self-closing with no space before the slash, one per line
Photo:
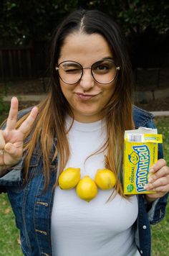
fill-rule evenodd
<path id="1" fill-rule="evenodd" d="M 148 185 L 146 190 L 155 191 L 152 194 L 146 194 L 148 202 L 155 201 L 157 198 L 165 196 L 169 191 L 169 167 L 164 159 L 159 159 L 151 168 Z"/>

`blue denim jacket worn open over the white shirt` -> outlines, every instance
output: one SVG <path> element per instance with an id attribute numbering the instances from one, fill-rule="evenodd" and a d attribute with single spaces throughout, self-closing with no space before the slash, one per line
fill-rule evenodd
<path id="1" fill-rule="evenodd" d="M 19 118 L 28 110 L 21 111 Z M 153 114 L 133 108 L 135 127 L 151 127 Z M 54 147 L 57 139 L 54 140 Z M 37 145 L 38 147 L 38 145 Z M 162 146 L 158 148 L 158 158 L 163 157 Z M 21 249 L 26 256 L 52 256 L 51 216 L 54 200 L 57 159 L 51 163 L 49 186 L 44 191 L 44 172 L 42 155 L 34 150 L 29 166 L 29 180 L 23 184 L 22 168 L 24 159 L 0 178 L 0 191 L 6 191 L 16 218 L 16 227 L 20 230 Z M 151 206 L 146 204 L 144 195 L 138 195 L 138 216 L 135 223 L 135 243 L 140 255 L 149 256 L 151 250 L 150 224 L 158 223 L 165 216 L 167 195 L 159 198 Z M 127 255 L 126 255 L 127 256 Z"/>

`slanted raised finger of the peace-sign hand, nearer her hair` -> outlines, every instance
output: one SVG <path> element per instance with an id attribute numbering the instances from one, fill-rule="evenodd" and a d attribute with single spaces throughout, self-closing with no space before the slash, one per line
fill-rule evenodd
<path id="1" fill-rule="evenodd" d="M 34 123 L 34 120 L 36 119 L 38 114 L 38 108 L 37 106 L 34 106 L 32 111 L 30 112 L 29 116 L 24 120 L 24 122 L 19 127 L 19 132 L 22 132 L 25 134 L 29 131 L 29 129 L 32 127 L 32 124 Z"/>

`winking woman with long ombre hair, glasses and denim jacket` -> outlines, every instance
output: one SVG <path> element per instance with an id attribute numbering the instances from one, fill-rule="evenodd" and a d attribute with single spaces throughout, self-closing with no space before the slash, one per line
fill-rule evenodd
<path id="1" fill-rule="evenodd" d="M 47 99 L 38 110 L 21 111 L 18 122 L 18 101 L 11 99 L 0 133 L 0 185 L 9 195 L 22 251 L 148 256 L 150 223 L 165 214 L 169 168 L 163 159 L 151 168 L 155 175 L 146 189 L 156 193 L 123 196 L 124 132 L 154 126 L 151 114 L 132 107 L 130 62 L 120 30 L 101 12 L 73 12 L 57 28 L 51 56 Z M 117 178 L 115 190 L 99 190 L 87 203 L 75 188 L 57 186 L 69 167 L 80 168 L 81 178 L 109 168 Z"/>

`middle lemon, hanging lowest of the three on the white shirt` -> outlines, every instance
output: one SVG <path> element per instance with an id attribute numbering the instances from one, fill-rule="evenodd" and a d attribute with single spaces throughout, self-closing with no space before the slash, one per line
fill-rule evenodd
<path id="1" fill-rule="evenodd" d="M 90 202 L 90 200 L 97 196 L 97 185 L 90 176 L 86 175 L 79 180 L 77 184 L 77 195 L 87 202 Z"/>

